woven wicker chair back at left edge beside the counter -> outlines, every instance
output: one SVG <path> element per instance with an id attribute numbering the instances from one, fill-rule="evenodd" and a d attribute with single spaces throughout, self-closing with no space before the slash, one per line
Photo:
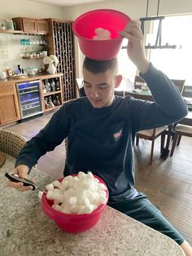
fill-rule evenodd
<path id="1" fill-rule="evenodd" d="M 20 149 L 24 148 L 26 143 L 27 139 L 23 136 L 10 130 L 0 130 L 0 151 L 17 157 Z M 33 166 L 33 168 L 37 169 L 37 166 Z"/>

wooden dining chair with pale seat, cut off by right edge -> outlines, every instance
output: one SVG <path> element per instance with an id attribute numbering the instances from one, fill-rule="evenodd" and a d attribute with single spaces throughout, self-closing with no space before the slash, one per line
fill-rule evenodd
<path id="1" fill-rule="evenodd" d="M 185 126 L 185 125 L 178 124 L 175 127 L 175 135 L 172 141 L 172 149 L 171 149 L 170 157 L 172 157 L 175 151 L 176 145 L 179 146 L 181 141 L 181 136 L 187 136 L 192 138 L 192 126 Z"/>

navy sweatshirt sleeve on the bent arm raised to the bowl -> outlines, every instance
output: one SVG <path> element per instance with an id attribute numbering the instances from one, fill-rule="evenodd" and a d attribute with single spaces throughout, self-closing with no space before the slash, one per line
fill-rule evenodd
<path id="1" fill-rule="evenodd" d="M 146 81 L 155 102 L 134 100 L 137 131 L 172 124 L 187 115 L 187 105 L 180 91 L 163 72 L 151 64 L 140 76 Z"/>

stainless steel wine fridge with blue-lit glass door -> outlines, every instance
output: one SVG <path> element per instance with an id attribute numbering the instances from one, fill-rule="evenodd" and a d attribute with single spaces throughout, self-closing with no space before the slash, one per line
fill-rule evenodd
<path id="1" fill-rule="evenodd" d="M 21 119 L 42 113 L 40 80 L 16 83 Z"/>

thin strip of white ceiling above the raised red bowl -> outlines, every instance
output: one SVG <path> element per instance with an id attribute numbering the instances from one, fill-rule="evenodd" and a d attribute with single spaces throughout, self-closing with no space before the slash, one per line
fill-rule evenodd
<path id="1" fill-rule="evenodd" d="M 104 2 L 110 0 L 29 0 L 30 2 L 41 2 L 52 6 L 69 7 L 90 2 Z"/>

